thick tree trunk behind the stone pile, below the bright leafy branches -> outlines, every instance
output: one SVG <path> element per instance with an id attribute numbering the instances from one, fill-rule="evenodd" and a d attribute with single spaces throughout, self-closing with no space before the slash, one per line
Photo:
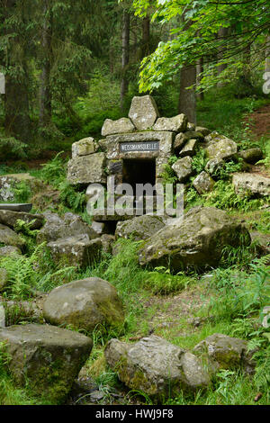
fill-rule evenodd
<path id="1" fill-rule="evenodd" d="M 180 76 L 180 94 L 178 103 L 178 112 L 184 113 L 188 121 L 196 124 L 196 94 L 194 88 L 186 87 L 196 84 L 196 67 L 185 66 L 181 69 Z"/>

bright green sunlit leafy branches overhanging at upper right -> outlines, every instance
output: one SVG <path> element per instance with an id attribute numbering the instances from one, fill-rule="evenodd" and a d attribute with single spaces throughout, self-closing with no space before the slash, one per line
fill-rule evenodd
<path id="1" fill-rule="evenodd" d="M 137 14 L 147 13 L 148 0 L 134 0 L 133 4 Z M 171 30 L 171 39 L 159 42 L 155 52 L 142 61 L 139 83 L 141 92 L 151 91 L 171 81 L 184 64 L 194 64 L 202 57 L 216 58 L 205 69 L 202 77 L 204 89 L 220 81 L 238 79 L 240 75 L 245 78 L 247 63 L 243 60 L 244 52 L 255 40 L 260 42 L 260 37 L 266 35 L 270 20 L 269 13 L 266 13 L 266 0 L 258 0 L 256 7 L 253 2 L 228 1 L 219 4 L 205 0 L 196 1 L 192 7 L 189 0 L 181 3 L 174 0 L 155 1 L 151 5 L 153 20 L 171 24 L 174 28 Z M 183 15 L 185 20 L 180 19 Z M 190 24 L 186 25 L 186 21 Z M 230 29 L 227 37 L 217 37 L 216 34 L 222 28 Z M 237 48 L 236 40 L 241 41 L 240 49 Z M 222 55 L 217 57 L 216 52 L 219 50 Z M 224 64 L 227 67 L 223 72 L 214 72 L 216 67 Z"/>

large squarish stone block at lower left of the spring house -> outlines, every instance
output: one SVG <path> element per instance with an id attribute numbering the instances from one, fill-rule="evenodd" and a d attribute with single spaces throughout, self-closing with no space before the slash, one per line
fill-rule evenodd
<path id="1" fill-rule="evenodd" d="M 106 157 L 104 153 L 72 158 L 67 163 L 67 181 L 70 184 L 104 184 Z"/>

